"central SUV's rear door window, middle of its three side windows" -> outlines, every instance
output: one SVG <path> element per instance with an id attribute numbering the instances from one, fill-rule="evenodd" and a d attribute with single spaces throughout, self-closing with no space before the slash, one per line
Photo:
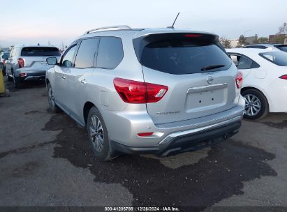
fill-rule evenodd
<path id="1" fill-rule="evenodd" d="M 77 56 L 75 58 L 75 68 L 94 67 L 96 50 L 98 49 L 98 38 L 82 40 Z"/>

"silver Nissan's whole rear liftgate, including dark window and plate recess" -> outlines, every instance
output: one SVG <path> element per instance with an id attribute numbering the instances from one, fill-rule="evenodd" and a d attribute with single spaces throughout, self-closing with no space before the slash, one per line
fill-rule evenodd
<path id="1" fill-rule="evenodd" d="M 208 116 L 237 105 L 237 68 L 217 44 L 201 33 L 164 33 L 134 40 L 145 82 L 168 86 L 157 103 L 147 103 L 154 123 Z"/>

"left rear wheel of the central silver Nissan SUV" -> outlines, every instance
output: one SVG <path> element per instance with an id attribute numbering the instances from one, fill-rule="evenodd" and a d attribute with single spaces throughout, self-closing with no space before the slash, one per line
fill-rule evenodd
<path id="1" fill-rule="evenodd" d="M 101 113 L 96 109 L 96 107 L 91 107 L 89 110 L 87 132 L 94 156 L 101 161 L 112 160 L 108 130 Z"/>

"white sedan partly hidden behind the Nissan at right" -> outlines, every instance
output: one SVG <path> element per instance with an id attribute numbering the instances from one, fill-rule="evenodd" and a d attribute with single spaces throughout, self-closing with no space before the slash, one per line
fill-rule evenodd
<path id="1" fill-rule="evenodd" d="M 228 49 L 243 74 L 244 117 L 260 119 L 268 112 L 287 112 L 287 53 L 261 49 Z"/>

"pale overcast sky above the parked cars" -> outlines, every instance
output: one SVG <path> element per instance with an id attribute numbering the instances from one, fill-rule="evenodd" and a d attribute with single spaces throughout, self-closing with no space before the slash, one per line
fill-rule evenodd
<path id="1" fill-rule="evenodd" d="M 209 31 L 225 38 L 268 36 L 287 22 L 286 0 L 0 0 L 0 46 L 68 45 L 87 29 L 128 24 Z"/>

